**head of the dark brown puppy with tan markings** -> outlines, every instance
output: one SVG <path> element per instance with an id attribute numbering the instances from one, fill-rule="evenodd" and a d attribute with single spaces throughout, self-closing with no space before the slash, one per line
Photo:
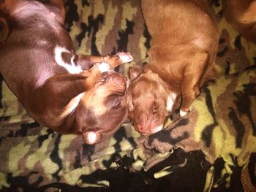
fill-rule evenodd
<path id="1" fill-rule="evenodd" d="M 80 126 L 87 144 L 99 142 L 102 134 L 110 134 L 127 119 L 124 93 L 127 78 L 116 72 L 104 72 L 101 80 L 81 99 Z"/>

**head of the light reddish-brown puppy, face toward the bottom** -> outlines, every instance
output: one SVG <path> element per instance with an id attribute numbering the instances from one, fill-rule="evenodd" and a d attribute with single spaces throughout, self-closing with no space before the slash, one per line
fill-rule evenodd
<path id="1" fill-rule="evenodd" d="M 150 70 L 143 72 L 140 67 L 131 68 L 129 78 L 132 81 L 126 97 L 129 119 L 140 134 L 160 131 L 173 110 L 176 95 Z"/>

